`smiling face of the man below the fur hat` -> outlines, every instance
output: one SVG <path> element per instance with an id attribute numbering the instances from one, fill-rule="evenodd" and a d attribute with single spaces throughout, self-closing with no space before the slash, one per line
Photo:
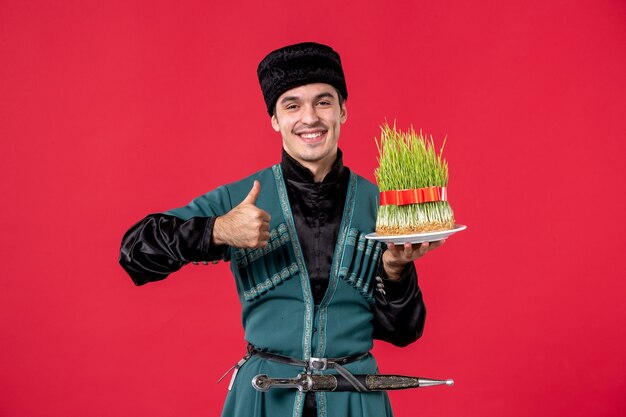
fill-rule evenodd
<path id="1" fill-rule="evenodd" d="M 337 157 L 346 118 L 345 103 L 333 86 L 306 84 L 278 97 L 272 127 L 283 137 L 285 151 L 321 181 Z"/>

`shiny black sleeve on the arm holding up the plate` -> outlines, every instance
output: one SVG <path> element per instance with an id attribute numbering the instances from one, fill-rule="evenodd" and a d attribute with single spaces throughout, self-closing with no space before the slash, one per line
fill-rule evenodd
<path id="1" fill-rule="evenodd" d="M 407 346 L 424 330 L 426 307 L 417 283 L 415 265 L 410 262 L 398 281 L 386 279 L 382 261 L 377 290 L 374 291 L 374 339 L 396 346 Z"/>

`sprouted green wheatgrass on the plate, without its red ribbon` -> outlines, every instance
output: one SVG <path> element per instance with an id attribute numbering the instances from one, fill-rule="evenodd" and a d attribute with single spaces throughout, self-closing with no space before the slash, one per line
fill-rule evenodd
<path id="1" fill-rule="evenodd" d="M 402 132 L 385 122 L 381 126 L 378 169 L 374 176 L 381 192 L 448 185 L 448 163 L 439 153 L 432 136 L 426 139 L 413 127 Z M 434 232 L 454 228 L 454 213 L 447 201 L 384 205 L 378 210 L 376 233 L 381 236 Z"/>

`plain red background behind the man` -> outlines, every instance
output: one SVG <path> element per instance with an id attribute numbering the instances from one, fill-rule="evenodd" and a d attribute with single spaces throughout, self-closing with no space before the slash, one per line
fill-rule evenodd
<path id="1" fill-rule="evenodd" d="M 331 44 L 346 164 L 385 119 L 447 135 L 468 229 L 418 261 L 424 336 L 397 416 L 626 413 L 626 4 L 0 3 L 0 415 L 213 416 L 245 344 L 227 265 L 132 285 L 124 231 L 278 161 L 256 80 Z"/>

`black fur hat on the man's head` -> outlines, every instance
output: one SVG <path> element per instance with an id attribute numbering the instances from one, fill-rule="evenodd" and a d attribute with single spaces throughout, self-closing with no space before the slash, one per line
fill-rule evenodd
<path id="1" fill-rule="evenodd" d="M 312 83 L 326 83 L 348 98 L 339 54 L 314 42 L 298 43 L 270 52 L 257 68 L 259 83 L 270 116 L 282 93 Z"/>

